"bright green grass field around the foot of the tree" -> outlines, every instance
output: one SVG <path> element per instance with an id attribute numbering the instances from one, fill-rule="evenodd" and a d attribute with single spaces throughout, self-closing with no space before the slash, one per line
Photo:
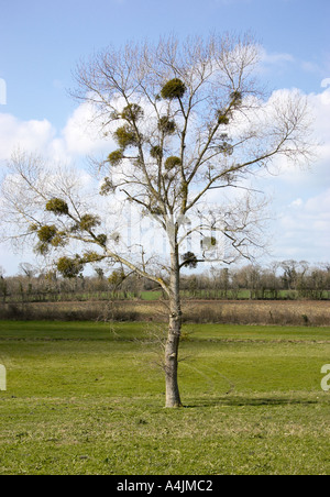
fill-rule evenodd
<path id="1" fill-rule="evenodd" d="M 175 410 L 153 332 L 0 321 L 0 474 L 330 474 L 330 328 L 186 327 Z"/>

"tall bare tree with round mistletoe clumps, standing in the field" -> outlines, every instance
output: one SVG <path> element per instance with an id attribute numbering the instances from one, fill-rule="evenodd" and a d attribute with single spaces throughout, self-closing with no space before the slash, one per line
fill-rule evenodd
<path id="1" fill-rule="evenodd" d="M 84 185 L 67 168 L 55 174 L 21 153 L 3 184 L 6 219 L 15 220 L 22 240 L 36 240 L 38 253 L 55 254 L 63 275 L 108 261 L 123 277 L 125 268 L 162 287 L 169 306 L 166 407 L 182 406 L 183 268 L 249 258 L 251 247 L 264 244 L 264 198 L 253 190 L 253 178 L 277 157 L 310 158 L 307 102 L 298 91 L 265 98 L 255 81 L 258 59 L 260 47 L 249 36 L 184 43 L 170 36 L 155 45 L 109 47 L 77 67 L 74 92 L 94 110 L 94 124 L 112 148 L 94 162 L 98 183 Z M 133 251 L 127 241 L 123 248 L 116 209 L 124 203 L 162 230 L 167 261 L 150 255 L 147 244 Z M 196 235 L 199 247 L 193 251 Z M 81 244 L 91 250 L 78 252 Z"/>

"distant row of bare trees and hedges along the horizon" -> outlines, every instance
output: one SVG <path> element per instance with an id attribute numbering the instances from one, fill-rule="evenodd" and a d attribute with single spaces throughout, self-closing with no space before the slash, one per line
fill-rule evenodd
<path id="1" fill-rule="evenodd" d="M 267 267 L 211 268 L 185 274 L 182 294 L 195 299 L 330 299 L 330 264 L 306 261 L 274 262 Z M 56 270 L 38 270 L 28 263 L 16 276 L 0 267 L 0 302 L 37 302 L 108 299 L 157 299 L 164 297 L 157 284 L 121 269 L 63 278 Z"/>

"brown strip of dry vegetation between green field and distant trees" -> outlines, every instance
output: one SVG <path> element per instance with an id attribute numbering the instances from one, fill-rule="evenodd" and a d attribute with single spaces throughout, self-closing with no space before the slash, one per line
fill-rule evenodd
<path id="1" fill-rule="evenodd" d="M 186 300 L 184 320 L 196 323 L 330 327 L 330 305 L 316 300 Z M 166 321 L 166 301 L 114 300 L 2 303 L 0 319 Z"/>

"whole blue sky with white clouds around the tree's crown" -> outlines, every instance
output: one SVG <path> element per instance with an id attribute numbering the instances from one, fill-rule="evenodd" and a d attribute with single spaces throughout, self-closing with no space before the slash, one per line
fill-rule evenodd
<path id="1" fill-rule="evenodd" d="M 330 262 L 329 21 L 329 0 L 0 0 L 0 168 L 18 145 L 78 163 L 105 147 L 84 134 L 84 109 L 68 95 L 76 65 L 95 52 L 169 33 L 250 32 L 263 46 L 263 81 L 308 96 L 321 141 L 310 169 L 263 184 L 272 258 Z M 28 258 L 0 245 L 9 275 Z"/>

